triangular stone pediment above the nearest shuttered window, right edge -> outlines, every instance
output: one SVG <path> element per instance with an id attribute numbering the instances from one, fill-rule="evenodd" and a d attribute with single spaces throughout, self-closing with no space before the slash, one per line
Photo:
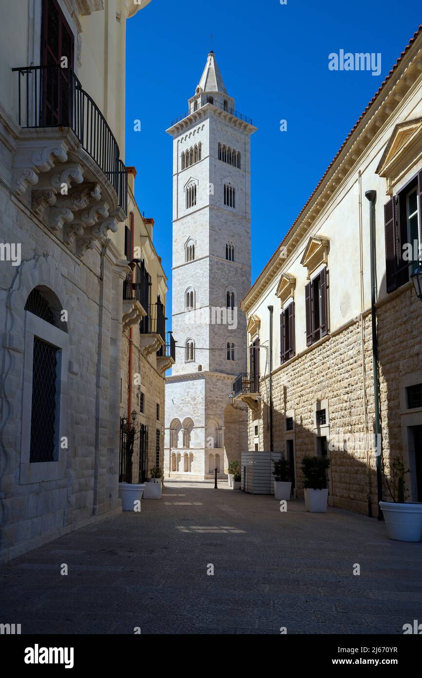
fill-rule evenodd
<path id="1" fill-rule="evenodd" d="M 387 179 L 387 193 L 421 158 L 422 117 L 396 125 L 375 170 Z"/>

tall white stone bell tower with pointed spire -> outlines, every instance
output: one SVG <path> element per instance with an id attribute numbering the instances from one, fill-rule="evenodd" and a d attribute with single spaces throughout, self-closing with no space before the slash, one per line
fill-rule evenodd
<path id="1" fill-rule="evenodd" d="M 173 138 L 173 315 L 176 363 L 167 377 L 165 475 L 226 473 L 247 445 L 246 411 L 229 403 L 246 370 L 250 285 L 252 121 L 210 52 Z"/>

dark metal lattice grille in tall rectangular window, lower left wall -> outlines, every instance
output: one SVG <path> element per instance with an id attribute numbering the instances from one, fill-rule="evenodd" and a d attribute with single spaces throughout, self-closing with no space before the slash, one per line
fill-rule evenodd
<path id="1" fill-rule="evenodd" d="M 56 346 L 34 337 L 30 462 L 54 461 L 57 353 Z"/>

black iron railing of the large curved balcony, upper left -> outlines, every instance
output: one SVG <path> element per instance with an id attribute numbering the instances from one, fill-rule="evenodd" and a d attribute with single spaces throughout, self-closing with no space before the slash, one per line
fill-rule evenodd
<path id="1" fill-rule="evenodd" d="M 82 89 L 72 68 L 60 64 L 12 68 L 19 77 L 20 127 L 71 127 L 83 149 L 102 169 L 127 212 L 127 172 L 119 146 L 100 108 Z"/>

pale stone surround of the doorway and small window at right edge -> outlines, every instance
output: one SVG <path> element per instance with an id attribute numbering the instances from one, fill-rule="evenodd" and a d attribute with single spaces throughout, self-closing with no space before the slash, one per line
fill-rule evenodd
<path id="1" fill-rule="evenodd" d="M 406 388 L 422 383 L 422 370 L 415 370 L 400 376 L 400 428 L 402 430 L 403 445 L 403 463 L 404 468 L 409 468 L 410 473 L 406 474 L 406 491 L 410 496 L 410 501 L 417 501 L 417 486 L 415 473 L 415 450 L 413 449 L 413 439 L 409 429 L 413 426 L 422 426 L 422 407 L 414 407 L 411 410 L 407 407 Z"/>

